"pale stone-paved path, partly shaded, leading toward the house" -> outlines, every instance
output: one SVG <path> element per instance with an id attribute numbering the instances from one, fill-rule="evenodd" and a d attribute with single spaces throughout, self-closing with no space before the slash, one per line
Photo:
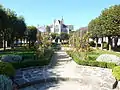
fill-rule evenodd
<path id="1" fill-rule="evenodd" d="M 43 82 L 20 90 L 113 90 L 115 79 L 111 69 L 77 65 L 62 50 L 55 53 L 51 65 L 23 70 L 22 79 L 27 82 L 39 79 Z"/>

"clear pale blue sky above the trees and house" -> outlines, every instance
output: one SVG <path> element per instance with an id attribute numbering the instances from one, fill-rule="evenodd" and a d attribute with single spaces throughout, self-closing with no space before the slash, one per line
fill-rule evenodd
<path id="1" fill-rule="evenodd" d="M 0 4 L 24 16 L 27 25 L 50 25 L 63 17 L 66 25 L 78 29 L 120 0 L 0 0 Z"/>

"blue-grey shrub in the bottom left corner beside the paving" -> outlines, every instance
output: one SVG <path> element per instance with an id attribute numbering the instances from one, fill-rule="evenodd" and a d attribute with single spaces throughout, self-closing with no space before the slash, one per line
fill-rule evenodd
<path id="1" fill-rule="evenodd" d="M 0 75 L 0 90 L 13 90 L 12 81 L 4 75 Z"/>

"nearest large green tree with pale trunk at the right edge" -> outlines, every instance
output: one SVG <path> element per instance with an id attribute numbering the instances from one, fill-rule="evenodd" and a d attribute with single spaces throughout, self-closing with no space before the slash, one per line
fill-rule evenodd
<path id="1" fill-rule="evenodd" d="M 112 37 L 120 35 L 120 5 L 104 9 L 101 13 L 103 32 L 108 37 L 108 49 L 112 47 Z M 117 41 L 117 40 L 116 40 Z"/>

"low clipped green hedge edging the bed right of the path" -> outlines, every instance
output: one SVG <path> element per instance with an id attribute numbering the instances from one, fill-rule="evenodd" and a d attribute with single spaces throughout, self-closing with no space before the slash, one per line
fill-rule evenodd
<path id="1" fill-rule="evenodd" d="M 107 62 L 98 62 L 96 60 L 80 60 L 76 53 L 72 53 L 70 51 L 67 52 L 73 60 L 78 63 L 79 65 L 85 65 L 85 66 L 96 66 L 96 67 L 102 67 L 102 68 L 110 68 L 113 69 L 115 66 L 117 66 L 115 63 L 107 63 Z"/>

